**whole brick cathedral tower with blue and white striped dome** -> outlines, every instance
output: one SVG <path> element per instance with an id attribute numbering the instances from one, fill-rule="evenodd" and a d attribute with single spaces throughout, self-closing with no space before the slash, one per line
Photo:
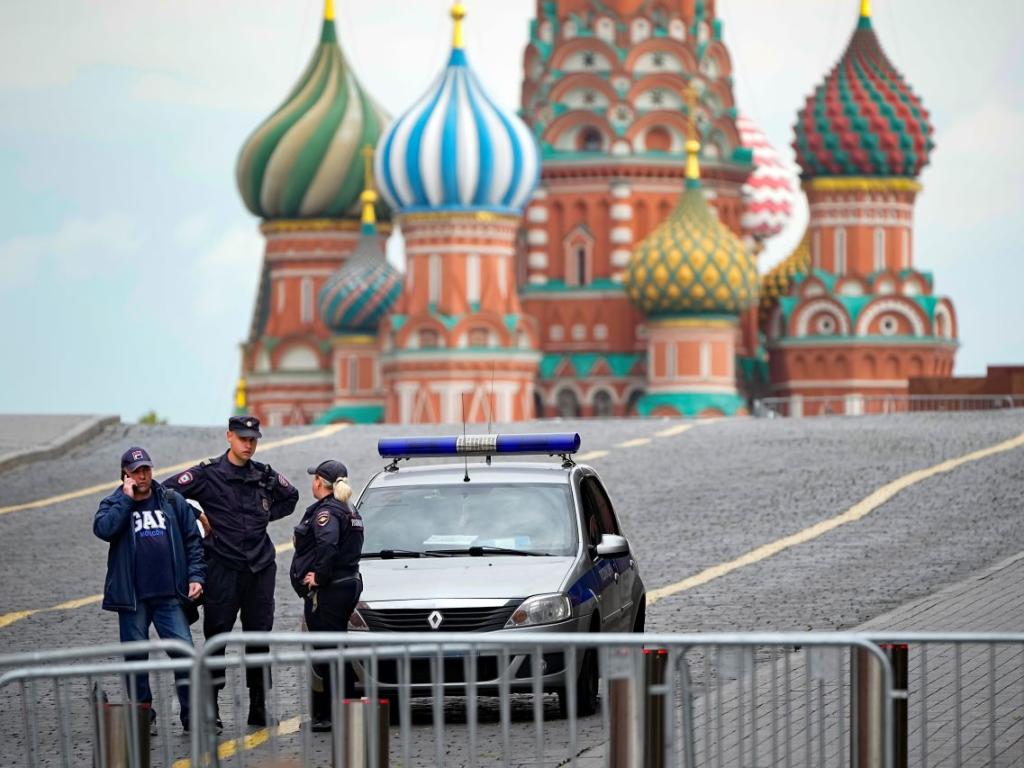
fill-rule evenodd
<path id="1" fill-rule="evenodd" d="M 470 68 L 464 15 L 456 3 L 447 66 L 378 145 L 378 186 L 397 213 L 407 264 L 382 328 L 388 422 L 534 415 L 537 325 L 519 305 L 513 257 L 540 158 Z"/>

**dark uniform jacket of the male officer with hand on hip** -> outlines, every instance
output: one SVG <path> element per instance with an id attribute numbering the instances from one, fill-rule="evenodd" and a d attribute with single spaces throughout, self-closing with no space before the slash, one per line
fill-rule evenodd
<path id="1" fill-rule="evenodd" d="M 299 492 L 268 464 L 250 461 L 236 467 L 226 451 L 167 478 L 164 485 L 203 506 L 213 528 L 205 540 L 208 555 L 253 572 L 274 560 L 267 524 L 292 514 L 299 502 Z"/>

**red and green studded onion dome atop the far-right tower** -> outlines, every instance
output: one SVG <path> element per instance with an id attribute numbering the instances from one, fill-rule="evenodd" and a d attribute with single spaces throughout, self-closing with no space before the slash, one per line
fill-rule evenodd
<path id="1" fill-rule="evenodd" d="M 800 111 L 793 147 L 804 178 L 915 178 L 934 147 L 928 111 L 882 50 L 870 2 L 839 63 Z"/>

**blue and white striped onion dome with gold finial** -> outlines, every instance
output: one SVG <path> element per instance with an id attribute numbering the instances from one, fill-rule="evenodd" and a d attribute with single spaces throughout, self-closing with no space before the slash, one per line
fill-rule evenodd
<path id="1" fill-rule="evenodd" d="M 469 68 L 457 4 L 447 67 L 378 143 L 378 188 L 402 213 L 519 214 L 537 187 L 540 152 L 529 129 L 499 108 Z"/>

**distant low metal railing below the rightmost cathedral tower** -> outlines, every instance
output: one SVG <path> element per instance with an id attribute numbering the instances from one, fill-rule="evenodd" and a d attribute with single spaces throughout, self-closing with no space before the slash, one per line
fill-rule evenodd
<path id="1" fill-rule="evenodd" d="M 847 394 L 763 397 L 752 413 L 761 417 L 884 416 L 924 412 L 1004 411 L 1024 408 L 1024 396 L 939 394 Z"/>

